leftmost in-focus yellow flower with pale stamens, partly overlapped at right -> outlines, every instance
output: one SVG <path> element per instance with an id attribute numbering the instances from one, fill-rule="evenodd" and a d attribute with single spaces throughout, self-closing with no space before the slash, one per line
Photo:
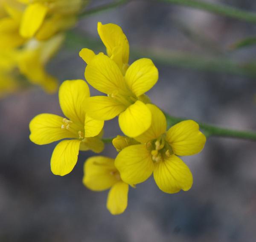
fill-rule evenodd
<path id="1" fill-rule="evenodd" d="M 90 118 L 82 108 L 90 91 L 83 80 L 64 81 L 59 89 L 62 112 L 67 118 L 43 113 L 35 116 L 29 124 L 30 140 L 35 144 L 49 144 L 63 140 L 55 147 L 51 158 L 51 170 L 64 176 L 76 165 L 79 150 L 104 149 L 101 141 L 104 121 Z"/>

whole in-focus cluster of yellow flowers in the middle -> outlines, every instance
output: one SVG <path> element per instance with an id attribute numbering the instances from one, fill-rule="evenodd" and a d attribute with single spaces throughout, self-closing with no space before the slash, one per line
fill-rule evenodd
<path id="1" fill-rule="evenodd" d="M 118 116 L 119 127 L 126 135 L 113 138 L 118 155 L 88 158 L 83 183 L 95 191 L 110 189 L 107 208 L 112 214 L 120 214 L 128 204 L 129 186 L 135 188 L 152 173 L 165 193 L 189 190 L 192 173 L 179 156 L 199 153 L 206 137 L 192 120 L 167 130 L 165 115 L 145 95 L 158 80 L 154 63 L 142 58 L 129 65 L 129 43 L 119 26 L 98 23 L 98 33 L 107 55 L 90 49 L 82 49 L 79 55 L 87 63 L 86 81 L 105 95 L 90 97 L 83 80 L 64 81 L 59 102 L 66 118 L 37 115 L 29 125 L 30 139 L 35 144 L 62 140 L 52 153 L 51 170 L 64 176 L 73 170 L 79 150 L 100 153 L 104 149 L 104 122 Z"/>

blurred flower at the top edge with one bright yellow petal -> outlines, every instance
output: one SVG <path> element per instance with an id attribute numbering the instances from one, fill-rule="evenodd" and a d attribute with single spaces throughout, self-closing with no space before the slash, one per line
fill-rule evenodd
<path id="1" fill-rule="evenodd" d="M 76 14 L 84 0 L 19 0 L 26 4 L 20 23 L 20 35 L 45 40 L 76 23 Z"/>

